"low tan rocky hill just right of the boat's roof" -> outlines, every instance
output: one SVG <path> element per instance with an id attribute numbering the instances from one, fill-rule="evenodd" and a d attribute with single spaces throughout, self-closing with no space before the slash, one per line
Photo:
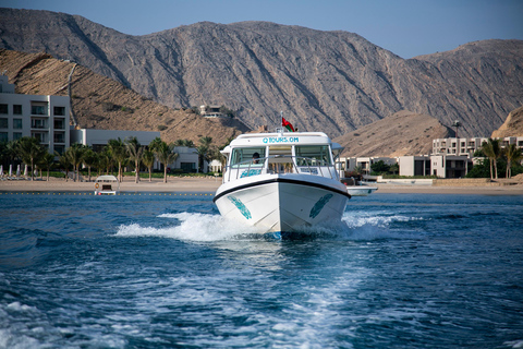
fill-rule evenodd
<path id="1" fill-rule="evenodd" d="M 433 140 L 450 136 L 454 136 L 454 131 L 437 119 L 402 110 L 339 136 L 335 142 L 344 147 L 342 156 L 346 157 L 397 157 L 428 155 Z"/>

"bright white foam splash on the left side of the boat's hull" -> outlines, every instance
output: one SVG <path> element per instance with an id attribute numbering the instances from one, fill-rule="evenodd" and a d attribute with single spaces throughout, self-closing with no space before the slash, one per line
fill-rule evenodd
<path id="1" fill-rule="evenodd" d="M 122 225 L 118 237 L 161 237 L 186 241 L 220 241 L 260 232 L 259 228 L 248 227 L 219 215 L 163 214 L 159 218 L 179 220 L 179 225 L 167 228 L 142 227 L 138 224 Z"/>

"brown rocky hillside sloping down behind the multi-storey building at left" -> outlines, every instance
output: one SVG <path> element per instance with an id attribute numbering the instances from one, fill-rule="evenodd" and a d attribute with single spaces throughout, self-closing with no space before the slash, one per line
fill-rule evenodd
<path id="1" fill-rule="evenodd" d="M 52 58 L 0 49 L 0 71 L 7 71 L 15 92 L 32 95 L 69 95 L 78 127 L 102 130 L 160 131 L 166 142 L 211 136 L 223 145 L 247 130 L 231 119 L 205 119 L 192 110 L 175 110 L 144 98 L 134 91 L 89 69 Z M 240 130 L 239 130 L 240 129 Z"/>

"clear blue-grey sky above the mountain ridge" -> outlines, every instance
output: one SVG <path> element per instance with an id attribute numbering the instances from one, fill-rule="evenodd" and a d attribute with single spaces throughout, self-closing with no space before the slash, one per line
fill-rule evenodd
<path id="1" fill-rule="evenodd" d="M 484 39 L 523 39 L 523 0 L 0 0 L 80 14 L 132 35 L 202 21 L 269 21 L 356 33 L 403 58 Z"/>

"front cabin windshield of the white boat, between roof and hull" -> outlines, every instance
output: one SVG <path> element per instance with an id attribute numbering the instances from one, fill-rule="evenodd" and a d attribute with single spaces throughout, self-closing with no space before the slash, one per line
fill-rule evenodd
<path id="1" fill-rule="evenodd" d="M 226 166 L 224 172 L 224 182 L 266 173 L 301 173 L 339 180 L 338 172 L 331 163 L 291 155 L 272 155 L 236 163 Z"/>

